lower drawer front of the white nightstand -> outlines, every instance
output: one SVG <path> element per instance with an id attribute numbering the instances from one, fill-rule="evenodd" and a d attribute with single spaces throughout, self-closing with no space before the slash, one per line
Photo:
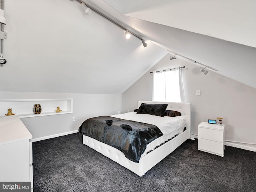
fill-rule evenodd
<path id="1" fill-rule="evenodd" d="M 211 140 L 198 139 L 198 150 L 206 151 L 212 154 L 217 154 L 223 157 L 224 144 Z"/>

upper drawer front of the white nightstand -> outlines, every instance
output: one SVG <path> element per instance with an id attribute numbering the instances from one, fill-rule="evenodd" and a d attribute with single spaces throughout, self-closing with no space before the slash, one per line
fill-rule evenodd
<path id="1" fill-rule="evenodd" d="M 208 139 L 223 143 L 223 131 L 198 127 L 198 138 Z"/>

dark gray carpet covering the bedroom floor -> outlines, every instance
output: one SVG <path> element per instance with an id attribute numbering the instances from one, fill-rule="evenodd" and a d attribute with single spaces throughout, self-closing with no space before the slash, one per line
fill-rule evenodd
<path id="1" fill-rule="evenodd" d="M 33 143 L 34 192 L 255 192 L 256 152 L 225 146 L 224 157 L 187 140 L 139 177 L 70 134 Z"/>

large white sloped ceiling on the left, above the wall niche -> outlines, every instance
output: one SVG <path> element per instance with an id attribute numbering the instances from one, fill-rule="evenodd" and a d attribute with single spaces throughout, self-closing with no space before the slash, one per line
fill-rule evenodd
<path id="1" fill-rule="evenodd" d="M 75 0 L 4 3 L 2 91 L 122 94 L 166 55 Z"/>

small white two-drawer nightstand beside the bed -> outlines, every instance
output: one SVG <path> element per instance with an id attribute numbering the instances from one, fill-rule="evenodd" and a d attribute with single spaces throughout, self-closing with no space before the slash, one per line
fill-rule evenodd
<path id="1" fill-rule="evenodd" d="M 198 150 L 224 156 L 225 125 L 202 122 L 198 125 Z"/>

